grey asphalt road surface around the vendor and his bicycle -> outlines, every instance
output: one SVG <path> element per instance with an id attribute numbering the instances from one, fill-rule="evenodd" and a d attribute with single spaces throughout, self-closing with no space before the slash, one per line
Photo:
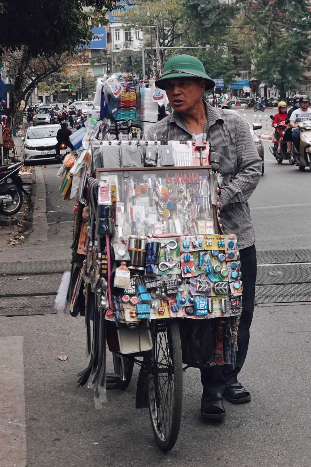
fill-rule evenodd
<path id="1" fill-rule="evenodd" d="M 252 122 L 252 111 L 242 113 Z M 295 282 L 303 271 L 310 281 L 310 262 L 275 263 L 286 263 L 283 258 L 295 256 L 296 250 L 310 254 L 311 172 L 277 164 L 270 142 L 263 144 L 265 174 L 249 200 L 259 263 L 274 263 L 265 280 Z M 187 369 L 180 436 L 168 454 L 155 446 L 148 410 L 135 409 L 137 368 L 126 391 L 108 392 L 103 410 L 94 408 L 90 389 L 76 389 L 76 374 L 88 365 L 83 319 L 67 319 L 53 308 L 61 273 L 68 269 L 73 219 L 72 204 L 58 192 L 59 166 L 37 169 L 44 181 L 37 190 L 43 186 L 39 200 L 45 198 L 46 214 L 36 233 L 18 250 L 1 252 L 0 271 L 13 276 L 0 277 L 6 295 L 0 299 L 0 467 L 309 466 L 310 298 L 256 307 L 240 377 L 252 401 L 225 403 L 224 422 L 200 419 L 199 372 Z M 45 227 L 46 235 L 41 234 Z M 274 259 L 277 252 L 282 261 Z M 265 266 L 258 267 L 260 277 L 263 270 Z M 296 279 L 287 279 L 294 273 Z M 15 282 L 20 276 L 25 280 Z M 61 353 L 67 361 L 57 359 Z"/>

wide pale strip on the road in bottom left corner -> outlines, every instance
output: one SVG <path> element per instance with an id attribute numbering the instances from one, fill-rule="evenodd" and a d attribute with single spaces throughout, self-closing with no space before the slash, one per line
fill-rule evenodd
<path id="1" fill-rule="evenodd" d="M 1 465 L 26 467 L 23 337 L 0 338 Z"/>

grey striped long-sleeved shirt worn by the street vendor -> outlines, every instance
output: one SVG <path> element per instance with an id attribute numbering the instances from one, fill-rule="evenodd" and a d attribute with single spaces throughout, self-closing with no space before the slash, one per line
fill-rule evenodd
<path id="1" fill-rule="evenodd" d="M 207 119 L 204 133 L 211 151 L 219 155 L 223 177 L 220 196 L 221 221 L 225 232 L 236 233 L 239 248 L 255 243 L 255 232 L 247 200 L 255 190 L 262 171 L 261 159 L 255 148 L 247 122 L 233 111 L 214 108 L 204 101 Z M 184 121 L 177 112 L 156 123 L 147 131 L 148 140 L 191 139 Z"/>

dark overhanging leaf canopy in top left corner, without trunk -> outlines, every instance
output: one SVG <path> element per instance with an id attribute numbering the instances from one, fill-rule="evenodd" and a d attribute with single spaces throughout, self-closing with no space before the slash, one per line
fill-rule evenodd
<path id="1" fill-rule="evenodd" d="M 2 0 L 0 48 L 28 48 L 32 57 L 59 54 L 87 44 L 90 13 L 115 7 L 113 0 Z"/>

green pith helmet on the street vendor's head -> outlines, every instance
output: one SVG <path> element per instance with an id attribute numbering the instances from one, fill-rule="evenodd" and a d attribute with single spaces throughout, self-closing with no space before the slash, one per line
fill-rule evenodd
<path id="1" fill-rule="evenodd" d="M 192 55 L 182 54 L 170 58 L 164 66 L 163 75 L 157 79 L 155 85 L 165 90 L 165 81 L 171 78 L 204 78 L 206 90 L 215 86 L 214 81 L 206 74 L 202 62 Z"/>

